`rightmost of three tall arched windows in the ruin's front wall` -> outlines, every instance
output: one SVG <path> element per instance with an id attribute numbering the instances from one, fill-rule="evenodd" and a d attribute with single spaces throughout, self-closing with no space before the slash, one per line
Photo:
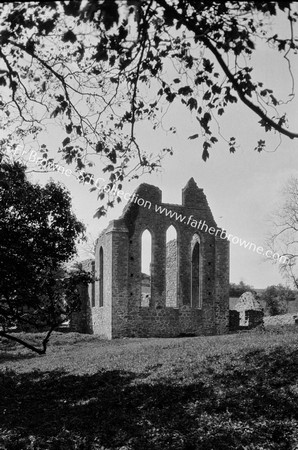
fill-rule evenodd
<path id="1" fill-rule="evenodd" d="M 194 308 L 202 307 L 202 277 L 201 277 L 201 242 L 197 234 L 192 240 L 191 252 L 191 305 Z"/>

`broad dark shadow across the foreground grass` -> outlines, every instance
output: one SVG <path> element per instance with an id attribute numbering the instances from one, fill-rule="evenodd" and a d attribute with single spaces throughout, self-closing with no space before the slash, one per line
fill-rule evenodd
<path id="1" fill-rule="evenodd" d="M 210 358 L 200 370 L 179 382 L 119 370 L 0 372 L 0 448 L 295 448 L 298 350 Z"/>

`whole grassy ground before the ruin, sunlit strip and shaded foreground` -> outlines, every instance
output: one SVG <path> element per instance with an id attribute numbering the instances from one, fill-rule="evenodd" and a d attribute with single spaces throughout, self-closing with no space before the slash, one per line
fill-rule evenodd
<path id="1" fill-rule="evenodd" d="M 298 327 L 0 344 L 1 450 L 298 449 Z"/>

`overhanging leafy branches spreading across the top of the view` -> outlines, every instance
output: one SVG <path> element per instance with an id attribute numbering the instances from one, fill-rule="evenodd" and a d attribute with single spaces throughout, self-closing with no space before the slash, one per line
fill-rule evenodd
<path id="1" fill-rule="evenodd" d="M 125 177 L 155 170 L 162 156 L 172 153 L 144 152 L 136 128 L 141 121 L 158 127 L 175 103 L 196 117 L 197 129 L 189 139 L 203 136 L 204 160 L 218 141 L 219 120 L 239 102 L 263 131 L 297 138 L 286 116 L 294 83 L 289 98 L 277 98 L 270 86 L 255 79 L 252 60 L 260 46 L 267 46 L 288 64 L 294 80 L 295 3 L 4 2 L 0 100 L 8 131 L 2 144 L 15 149 L 21 139 L 26 143 L 30 136 L 32 141 L 51 121 L 58 121 L 65 133 L 60 154 L 75 164 L 79 179 L 94 182 L 90 167 L 93 156 L 99 156 L 109 187 L 120 190 Z M 275 19 L 288 24 L 287 35 L 278 28 L 272 31 Z M 235 152 L 235 137 L 226 141 Z M 261 134 L 255 150 L 264 148 Z M 40 150 L 47 158 L 46 144 Z M 103 199 L 106 194 L 99 191 Z M 114 201 L 108 198 L 107 205 Z M 97 216 L 105 211 L 101 206 Z"/>

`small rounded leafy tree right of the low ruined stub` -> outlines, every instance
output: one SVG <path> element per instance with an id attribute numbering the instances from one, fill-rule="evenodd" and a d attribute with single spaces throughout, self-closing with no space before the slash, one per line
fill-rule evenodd
<path id="1" fill-rule="evenodd" d="M 288 287 L 278 284 L 268 286 L 261 294 L 261 300 L 265 301 L 266 309 L 270 316 L 285 314 L 288 310 L 288 302 L 295 298 L 295 293 Z"/>

